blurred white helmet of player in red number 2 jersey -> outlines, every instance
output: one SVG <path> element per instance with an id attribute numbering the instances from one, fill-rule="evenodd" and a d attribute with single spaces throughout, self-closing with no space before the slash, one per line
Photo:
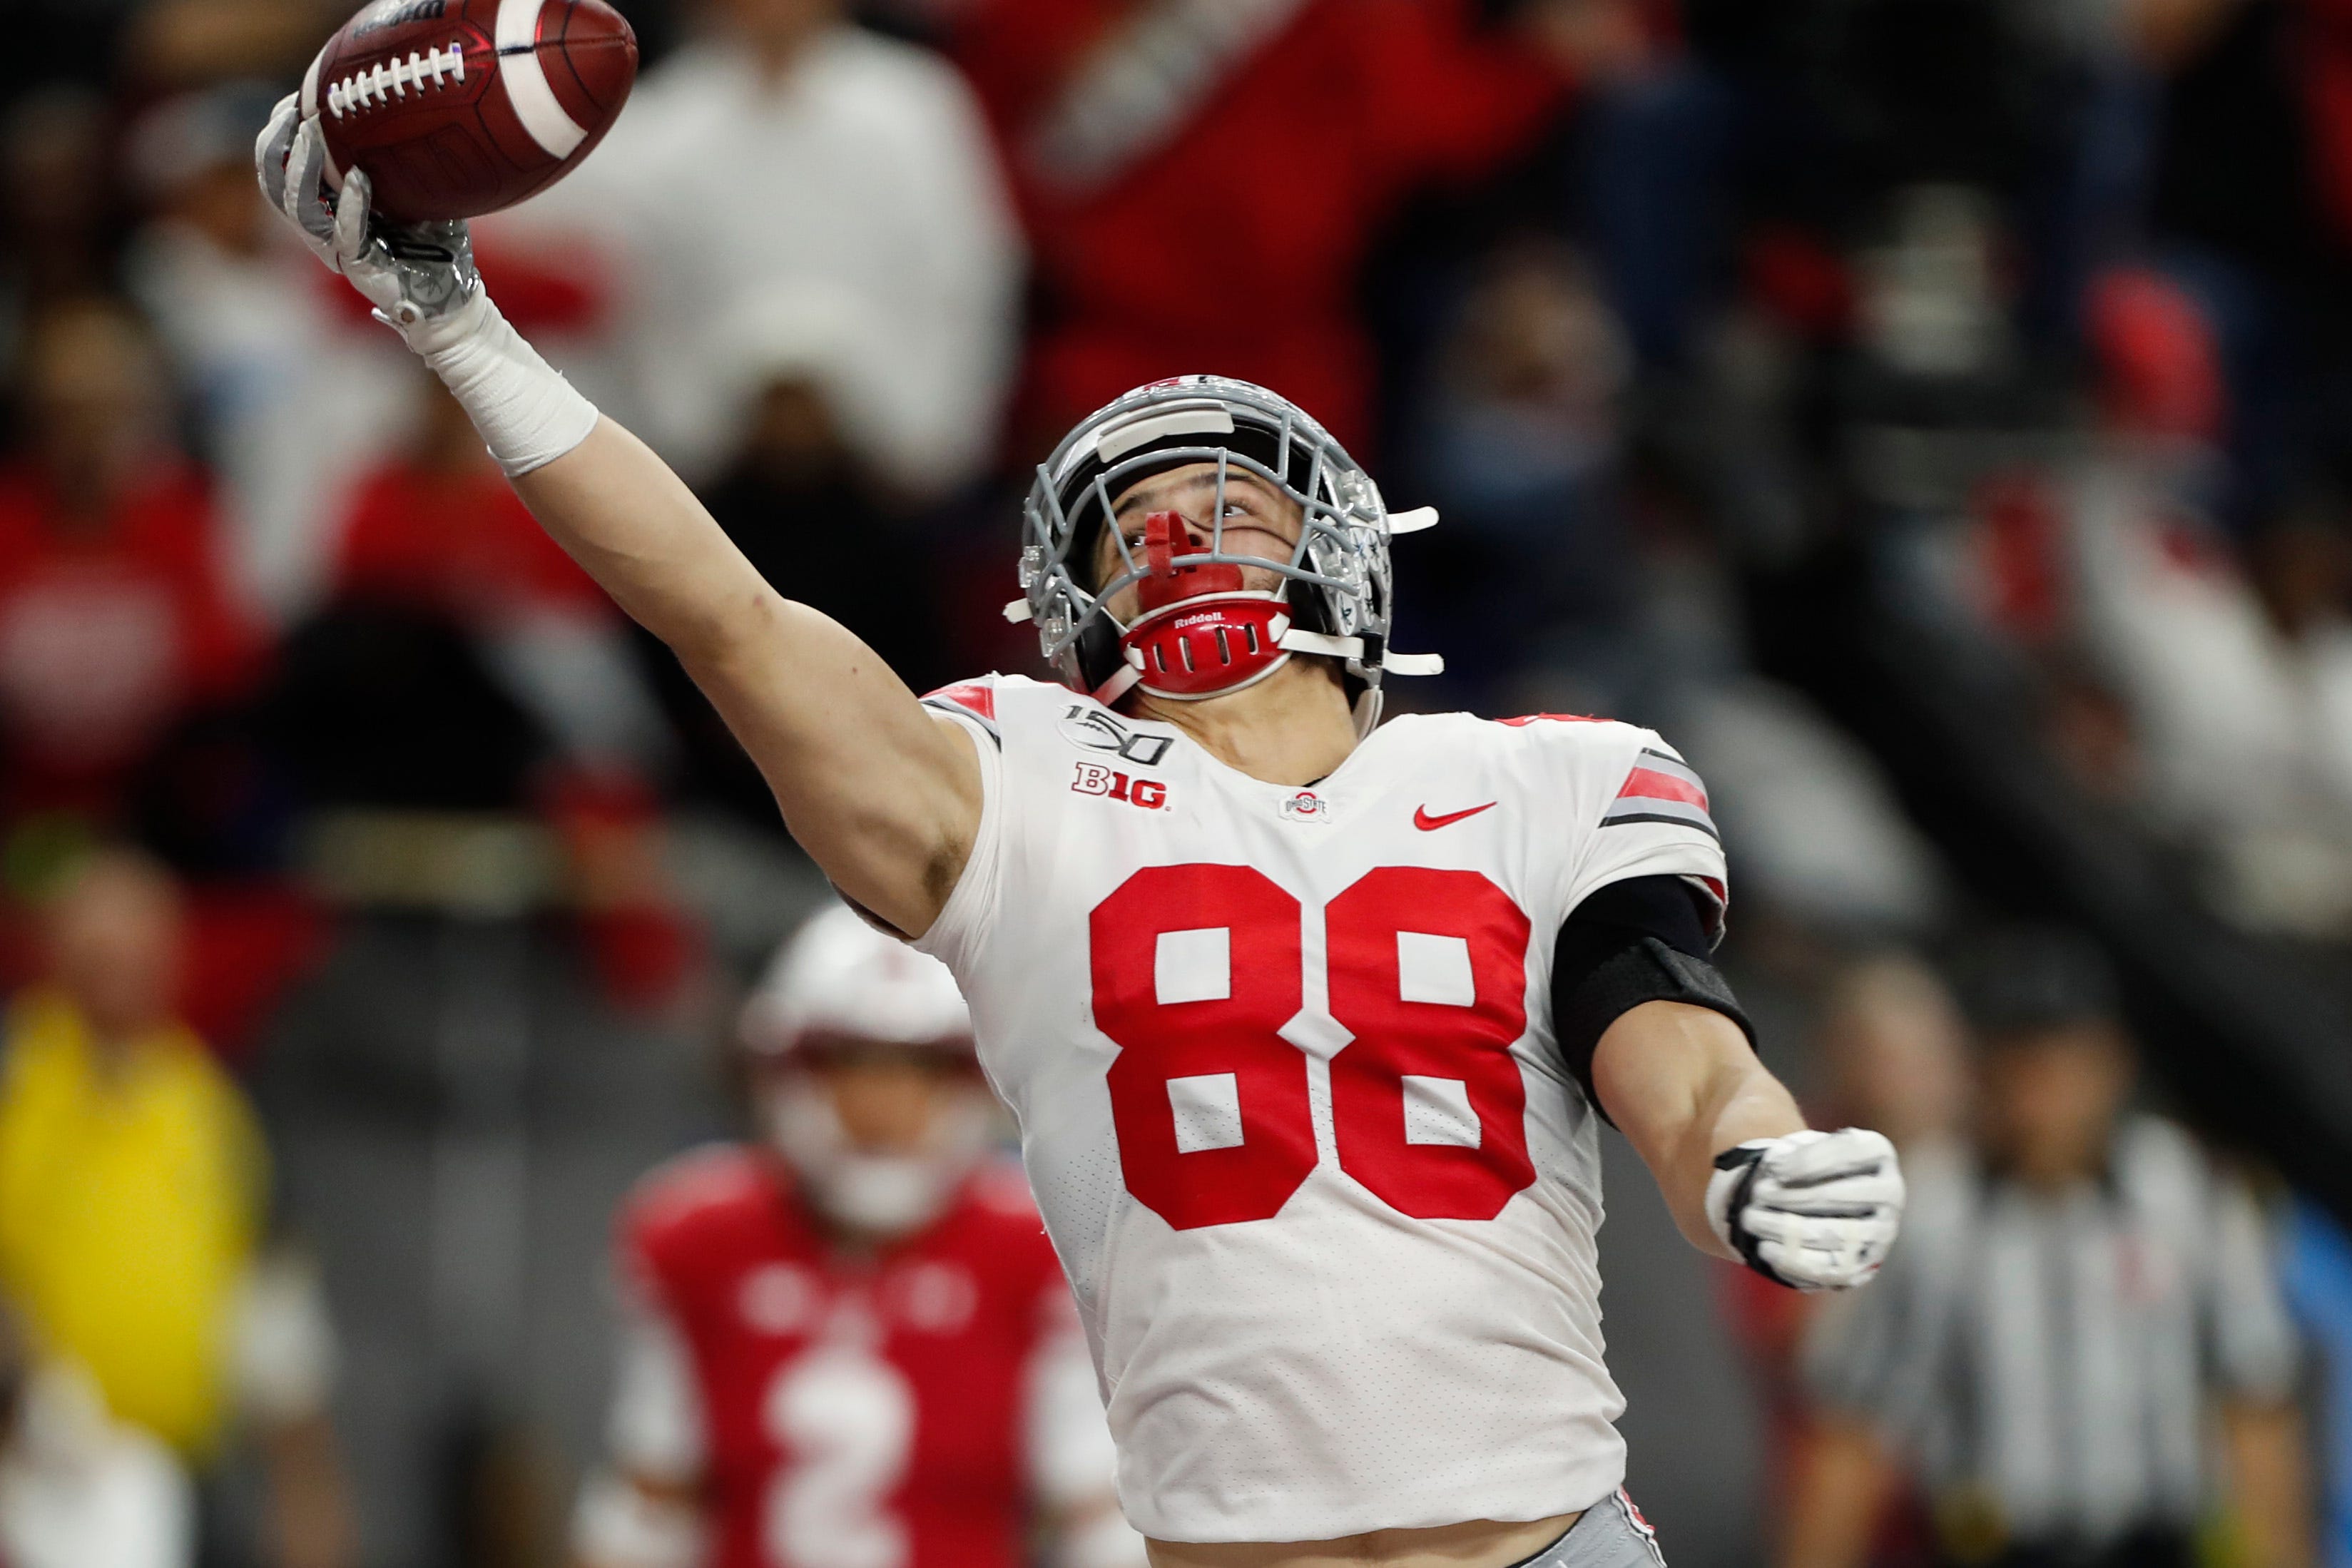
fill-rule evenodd
<path id="1" fill-rule="evenodd" d="M 743 1006 L 762 1131 L 835 1225 L 898 1237 L 929 1225 L 988 1152 L 990 1107 L 955 976 L 833 905 L 795 931 Z M 877 1058 L 929 1060 L 934 1084 L 913 1138 L 875 1147 L 842 1117 L 828 1070 Z M 971 1081 L 960 1081 L 971 1074 Z"/>

